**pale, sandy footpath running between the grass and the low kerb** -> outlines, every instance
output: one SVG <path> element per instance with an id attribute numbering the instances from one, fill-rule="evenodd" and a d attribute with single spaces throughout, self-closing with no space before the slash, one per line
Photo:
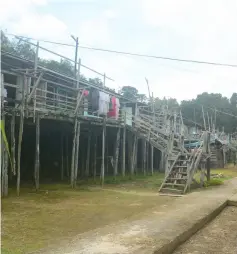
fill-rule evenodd
<path id="1" fill-rule="evenodd" d="M 193 192 L 144 213 L 133 221 L 119 222 L 78 235 L 45 254 L 153 253 L 194 223 L 221 206 L 237 191 L 237 178 L 224 186 Z M 159 197 L 157 196 L 157 199 Z"/>

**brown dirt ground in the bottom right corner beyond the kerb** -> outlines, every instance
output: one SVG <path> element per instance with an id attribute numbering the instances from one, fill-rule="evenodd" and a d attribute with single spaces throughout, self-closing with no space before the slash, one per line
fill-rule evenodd
<path id="1" fill-rule="evenodd" d="M 174 254 L 236 254 L 237 207 L 229 206 Z"/>

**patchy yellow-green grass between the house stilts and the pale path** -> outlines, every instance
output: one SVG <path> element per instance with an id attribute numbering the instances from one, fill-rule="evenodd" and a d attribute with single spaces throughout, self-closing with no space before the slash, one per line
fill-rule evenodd
<path id="1" fill-rule="evenodd" d="M 103 190 L 88 182 L 81 182 L 76 190 L 67 184 L 41 185 L 38 193 L 22 187 L 20 197 L 10 190 L 9 197 L 2 199 L 2 253 L 35 251 L 172 202 L 155 195 L 163 176 L 106 178 Z"/>

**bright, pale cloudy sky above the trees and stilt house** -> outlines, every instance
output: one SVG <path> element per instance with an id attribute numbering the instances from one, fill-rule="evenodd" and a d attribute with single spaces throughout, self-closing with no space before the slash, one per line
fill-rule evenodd
<path id="1" fill-rule="evenodd" d="M 0 27 L 8 33 L 81 46 L 237 64 L 236 0 L 0 0 Z M 74 48 L 40 42 L 68 58 Z M 59 57 L 39 52 L 40 57 Z M 154 97 L 192 99 L 202 92 L 230 97 L 237 68 L 131 57 L 79 49 L 82 64 Z M 87 77 L 97 74 L 81 69 Z"/>

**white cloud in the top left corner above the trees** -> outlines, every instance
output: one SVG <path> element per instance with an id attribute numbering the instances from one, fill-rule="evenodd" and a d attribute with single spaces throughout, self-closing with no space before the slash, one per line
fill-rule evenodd
<path id="1" fill-rule="evenodd" d="M 65 35 L 67 26 L 50 14 L 37 12 L 37 7 L 47 5 L 47 0 L 8 0 L 0 2 L 0 22 L 10 33 L 54 39 Z M 53 33 L 52 33 L 53 31 Z"/>

